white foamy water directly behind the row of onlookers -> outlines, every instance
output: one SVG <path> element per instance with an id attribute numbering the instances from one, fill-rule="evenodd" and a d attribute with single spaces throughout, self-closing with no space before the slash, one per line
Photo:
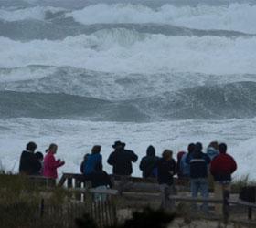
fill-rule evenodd
<path id="1" fill-rule="evenodd" d="M 255 179 L 255 124 L 256 119 L 183 120 L 143 124 L 67 119 L 0 119 L 0 150 L 5 169 L 17 171 L 21 150 L 24 150 L 28 141 L 35 140 L 41 151 L 49 143 L 56 142 L 59 144 L 57 157 L 66 161 L 59 173 L 79 172 L 83 155 L 90 152 L 92 145 L 101 144 L 104 169 L 112 172 L 106 160 L 112 151 L 114 140 L 125 141 L 127 148 L 139 155 L 139 161 L 150 144 L 155 146 L 158 155 L 165 149 L 171 149 L 175 151 L 176 157 L 177 151 L 187 150 L 190 142 L 201 141 L 207 147 L 209 141 L 218 140 L 228 143 L 229 153 L 238 161 L 236 176 L 249 174 Z M 135 176 L 141 176 L 139 161 L 133 165 Z"/>

